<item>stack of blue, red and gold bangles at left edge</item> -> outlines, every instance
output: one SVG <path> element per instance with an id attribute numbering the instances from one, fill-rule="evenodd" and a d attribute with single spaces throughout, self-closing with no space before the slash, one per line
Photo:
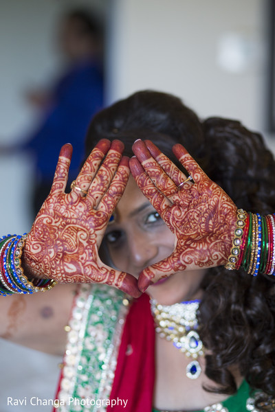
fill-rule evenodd
<path id="1" fill-rule="evenodd" d="M 8 235 L 0 238 L 0 295 L 34 293 L 53 288 L 52 279 L 28 279 L 21 266 L 21 255 L 25 244 L 23 236 Z"/>

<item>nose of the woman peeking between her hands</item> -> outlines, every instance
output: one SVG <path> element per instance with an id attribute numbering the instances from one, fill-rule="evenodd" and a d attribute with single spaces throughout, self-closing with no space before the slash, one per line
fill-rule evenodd
<path id="1" fill-rule="evenodd" d="M 159 248 L 155 241 L 150 240 L 142 233 L 132 233 L 129 238 L 129 262 L 131 266 L 131 273 L 138 274 L 142 269 L 157 262 L 157 255 Z"/>

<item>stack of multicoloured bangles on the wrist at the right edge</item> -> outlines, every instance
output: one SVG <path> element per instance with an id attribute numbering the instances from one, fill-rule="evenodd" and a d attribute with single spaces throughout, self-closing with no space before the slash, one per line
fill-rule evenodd
<path id="1" fill-rule="evenodd" d="M 232 249 L 225 268 L 240 267 L 253 276 L 275 275 L 275 214 L 260 216 L 243 209 L 237 211 Z"/>

